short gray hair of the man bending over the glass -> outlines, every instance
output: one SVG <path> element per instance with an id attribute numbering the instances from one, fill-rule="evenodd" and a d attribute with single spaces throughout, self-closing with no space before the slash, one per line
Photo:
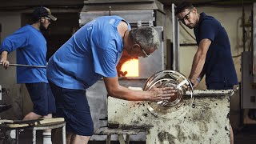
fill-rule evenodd
<path id="1" fill-rule="evenodd" d="M 139 46 L 142 46 L 143 50 L 150 50 L 151 48 L 157 50 L 160 45 L 157 30 L 150 26 L 141 26 L 130 30 L 129 37 Z"/>

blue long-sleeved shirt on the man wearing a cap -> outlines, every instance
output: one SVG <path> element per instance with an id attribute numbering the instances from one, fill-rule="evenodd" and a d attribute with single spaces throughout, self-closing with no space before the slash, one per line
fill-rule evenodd
<path id="1" fill-rule="evenodd" d="M 6 37 L 0 46 L 8 53 L 17 50 L 17 63 L 32 66 L 46 66 L 46 38 L 40 30 L 31 25 L 26 25 Z M 33 68 L 17 66 L 18 83 L 48 82 L 46 68 Z"/>

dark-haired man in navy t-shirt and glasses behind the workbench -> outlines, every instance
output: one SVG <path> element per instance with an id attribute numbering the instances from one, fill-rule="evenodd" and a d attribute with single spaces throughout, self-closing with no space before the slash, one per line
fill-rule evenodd
<path id="1" fill-rule="evenodd" d="M 198 14 L 190 2 L 181 2 L 175 10 L 178 20 L 190 29 L 198 44 L 189 79 L 195 86 L 206 74 L 208 90 L 232 90 L 238 84 L 237 74 L 226 30 L 214 17 Z M 233 131 L 230 129 L 231 143 Z"/>

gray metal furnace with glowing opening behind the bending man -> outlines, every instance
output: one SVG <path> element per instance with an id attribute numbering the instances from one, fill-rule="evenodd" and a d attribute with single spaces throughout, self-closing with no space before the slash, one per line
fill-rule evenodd
<path id="1" fill-rule="evenodd" d="M 160 47 L 153 54 L 150 54 L 150 58 L 132 58 L 129 54 L 126 54 L 126 52 L 122 54 L 122 58 L 117 66 L 118 76 L 120 78 L 146 80 L 150 75 L 164 70 L 164 50 L 166 49 L 162 24 L 164 19 L 161 19 L 163 14 L 159 6 L 162 7 L 162 4 L 152 0 L 137 2 L 85 1 L 85 6 L 80 13 L 81 26 L 100 16 L 117 15 L 126 19 L 132 28 L 138 26 L 153 26 L 154 29 L 158 31 Z M 156 19 L 159 20 L 157 21 Z"/>

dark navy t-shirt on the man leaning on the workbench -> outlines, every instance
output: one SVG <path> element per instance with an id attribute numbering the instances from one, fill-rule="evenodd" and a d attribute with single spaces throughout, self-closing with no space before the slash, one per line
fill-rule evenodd
<path id="1" fill-rule="evenodd" d="M 198 27 L 194 28 L 194 34 L 198 45 L 204 38 L 211 41 L 203 67 L 206 72 L 206 85 L 211 82 L 225 82 L 226 86 L 237 85 L 238 78 L 231 55 L 230 40 L 222 24 L 214 17 L 202 13 Z"/>

